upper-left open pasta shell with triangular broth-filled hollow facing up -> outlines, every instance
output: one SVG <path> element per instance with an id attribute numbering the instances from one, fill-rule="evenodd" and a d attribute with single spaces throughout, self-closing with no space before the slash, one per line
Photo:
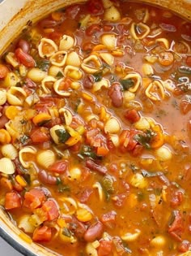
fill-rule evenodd
<path id="1" fill-rule="evenodd" d="M 38 46 L 39 55 L 41 58 L 49 58 L 57 52 L 57 45 L 48 38 L 42 38 Z"/>

